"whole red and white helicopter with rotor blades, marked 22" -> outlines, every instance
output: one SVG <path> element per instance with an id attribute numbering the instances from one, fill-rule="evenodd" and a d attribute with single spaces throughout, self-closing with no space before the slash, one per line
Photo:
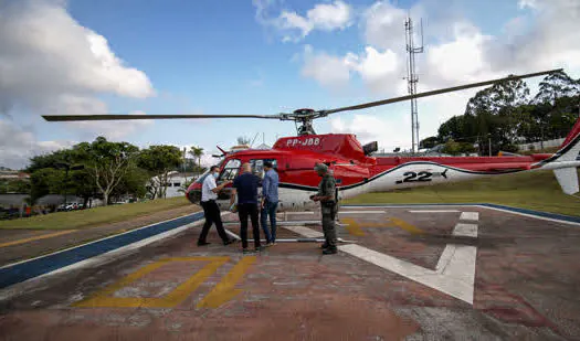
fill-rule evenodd
<path id="1" fill-rule="evenodd" d="M 367 104 L 330 110 L 298 109 L 278 115 L 48 115 L 49 121 L 117 120 L 117 119 L 178 119 L 178 118 L 257 118 L 293 120 L 297 125 L 296 137 L 284 137 L 272 149 L 245 149 L 223 152 L 218 182 L 233 180 L 242 163 L 250 162 L 256 173 L 262 173 L 264 161 L 272 161 L 280 175 L 278 211 L 303 211 L 313 209 L 309 196 L 317 191 L 319 177 L 314 171 L 318 162 L 326 163 L 337 181 L 337 200 L 352 198 L 367 192 L 384 192 L 420 185 L 465 181 L 523 171 L 553 170 L 567 194 L 579 191 L 577 167 L 580 167 L 580 119 L 572 127 L 561 148 L 555 154 L 531 154 L 515 157 L 372 157 L 378 150 L 377 142 L 365 146 L 350 134 L 317 135 L 313 120 L 331 114 L 358 110 L 386 104 L 439 95 L 472 87 L 492 85 L 496 82 L 527 78 L 549 74 L 551 70 L 532 74 L 473 83 L 389 98 Z M 194 204 L 201 199 L 201 184 L 208 172 L 194 181 L 186 191 Z M 225 188 L 218 198 L 221 209 L 230 202 L 230 189 Z"/>

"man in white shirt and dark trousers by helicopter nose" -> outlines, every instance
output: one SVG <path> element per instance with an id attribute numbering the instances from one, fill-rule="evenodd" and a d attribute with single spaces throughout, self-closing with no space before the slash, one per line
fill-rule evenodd
<path id="1" fill-rule="evenodd" d="M 210 173 L 205 177 L 201 187 L 201 206 L 203 207 L 203 214 L 205 215 L 205 224 L 203 224 L 203 228 L 201 230 L 201 234 L 199 235 L 198 246 L 210 244 L 205 242 L 205 238 L 208 237 L 208 233 L 210 232 L 210 227 L 213 223 L 215 223 L 215 228 L 218 230 L 218 234 L 223 241 L 223 245 L 233 243 L 233 241 L 230 239 L 225 234 L 225 230 L 223 230 L 223 223 L 220 215 L 220 207 L 215 202 L 215 200 L 218 199 L 218 193 L 224 187 L 232 183 L 232 181 L 225 181 L 224 183 L 217 185 L 215 179 L 219 174 L 220 168 L 218 166 L 212 166 L 210 168 Z"/>

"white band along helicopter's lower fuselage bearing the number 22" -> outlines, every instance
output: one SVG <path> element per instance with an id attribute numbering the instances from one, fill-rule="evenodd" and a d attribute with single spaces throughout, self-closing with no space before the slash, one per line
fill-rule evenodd
<path id="1" fill-rule="evenodd" d="M 398 189 L 432 185 L 439 183 L 458 182 L 499 175 L 502 173 L 478 173 L 457 168 L 450 168 L 432 162 L 410 162 L 394 169 L 389 169 L 358 185 L 339 187 L 339 200 L 354 198 L 369 192 L 387 192 Z M 317 190 L 312 187 L 278 189 L 278 212 L 319 210 L 319 204 L 310 200 Z M 296 187 L 300 187 L 296 184 Z M 229 200 L 219 201 L 220 209 L 228 209 Z"/>

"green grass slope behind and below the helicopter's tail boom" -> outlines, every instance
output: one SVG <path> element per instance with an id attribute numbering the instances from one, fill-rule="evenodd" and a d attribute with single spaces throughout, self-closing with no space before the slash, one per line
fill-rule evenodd
<path id="1" fill-rule="evenodd" d="M 563 194 L 551 171 L 499 175 L 470 182 L 384 193 L 367 193 L 344 202 L 344 204 L 363 203 L 494 203 L 580 216 L 580 198 Z"/>

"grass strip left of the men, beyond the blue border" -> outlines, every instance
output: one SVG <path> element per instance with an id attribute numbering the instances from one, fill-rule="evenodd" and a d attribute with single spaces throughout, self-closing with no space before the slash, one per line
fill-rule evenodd
<path id="1" fill-rule="evenodd" d="M 191 205 L 191 203 L 184 196 L 157 199 L 143 203 L 101 206 L 89 210 L 56 212 L 12 221 L 0 221 L 0 228 L 86 228 L 188 205 Z"/>

